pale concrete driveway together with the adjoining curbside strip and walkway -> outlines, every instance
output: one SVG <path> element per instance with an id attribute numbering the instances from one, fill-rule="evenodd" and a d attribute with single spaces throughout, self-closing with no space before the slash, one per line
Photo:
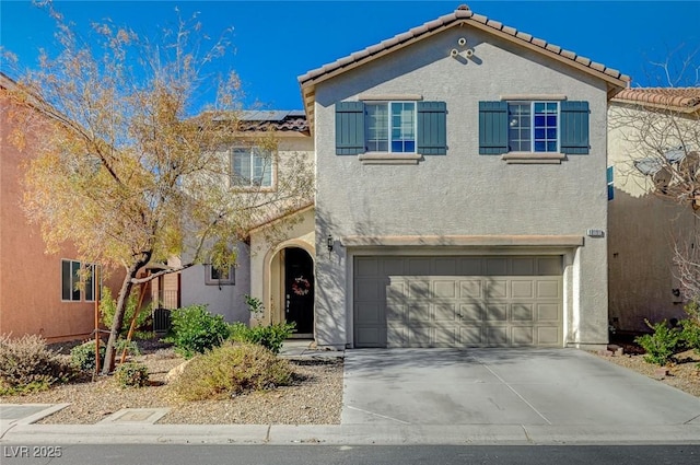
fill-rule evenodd
<path id="1" fill-rule="evenodd" d="M 283 356 L 343 353 L 298 341 Z M 0 443 L 700 444 L 700 399 L 574 349 L 345 357 L 341 425 L 36 425 L 59 406 L 0 404 Z"/>

